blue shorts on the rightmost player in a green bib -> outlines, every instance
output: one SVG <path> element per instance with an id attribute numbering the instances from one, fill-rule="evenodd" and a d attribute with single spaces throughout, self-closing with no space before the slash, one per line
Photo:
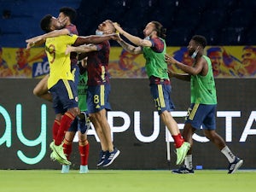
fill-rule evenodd
<path id="1" fill-rule="evenodd" d="M 188 109 L 185 119 L 186 124 L 192 125 L 193 128 L 199 130 L 201 126 L 205 130 L 216 129 L 216 113 L 217 105 L 205 105 L 192 103 Z"/>

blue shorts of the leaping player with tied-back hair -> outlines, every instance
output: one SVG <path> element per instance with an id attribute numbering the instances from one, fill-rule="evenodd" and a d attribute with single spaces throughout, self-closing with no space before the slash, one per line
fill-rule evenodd
<path id="1" fill-rule="evenodd" d="M 172 86 L 170 84 L 150 84 L 150 92 L 159 114 L 164 111 L 173 111 L 175 106 L 171 98 Z"/>

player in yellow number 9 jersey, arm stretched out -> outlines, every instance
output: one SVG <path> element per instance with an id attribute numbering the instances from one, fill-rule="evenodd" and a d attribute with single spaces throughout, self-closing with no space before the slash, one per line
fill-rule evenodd
<path id="1" fill-rule="evenodd" d="M 59 20 L 51 15 L 46 15 L 43 20 L 41 20 L 41 28 L 44 32 L 50 32 L 60 27 L 61 24 Z M 64 35 L 46 39 L 45 46 L 50 67 L 48 89 L 53 96 L 53 107 L 56 114 L 54 130 L 57 130 L 57 134 L 54 136 L 55 141 L 50 143 L 50 148 L 53 150 L 51 158 L 59 161 L 61 164 L 71 164 L 63 152 L 61 143 L 65 131 L 67 131 L 73 119 L 75 119 L 79 113 L 78 93 L 73 81 L 73 74 L 71 73 L 70 54 L 65 55 L 65 49 L 67 45 L 71 44 L 98 44 L 104 40 L 113 38 L 113 36 L 114 35 L 103 37 L 90 36 L 82 38 L 77 35 Z"/>

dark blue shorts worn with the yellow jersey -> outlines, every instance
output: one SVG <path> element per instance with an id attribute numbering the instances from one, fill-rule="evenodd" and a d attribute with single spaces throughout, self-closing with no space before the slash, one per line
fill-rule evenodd
<path id="1" fill-rule="evenodd" d="M 78 90 L 72 80 L 60 79 L 49 91 L 56 114 L 66 113 L 69 108 L 78 108 Z"/>

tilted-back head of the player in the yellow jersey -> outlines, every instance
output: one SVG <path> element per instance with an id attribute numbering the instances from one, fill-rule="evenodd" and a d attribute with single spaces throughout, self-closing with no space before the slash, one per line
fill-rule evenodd
<path id="1" fill-rule="evenodd" d="M 44 32 L 51 32 L 61 28 L 61 23 L 52 15 L 45 15 L 40 22 L 41 29 Z"/>

